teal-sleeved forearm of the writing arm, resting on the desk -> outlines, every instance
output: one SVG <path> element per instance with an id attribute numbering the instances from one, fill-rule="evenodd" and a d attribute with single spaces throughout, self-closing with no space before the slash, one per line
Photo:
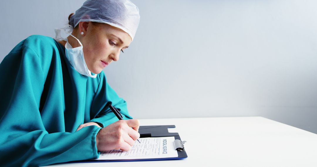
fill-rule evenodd
<path id="1" fill-rule="evenodd" d="M 98 158 L 96 135 L 100 129 L 89 126 L 75 133 L 37 130 L 10 135 L 0 145 L 0 161 L 3 166 L 42 166 Z"/>

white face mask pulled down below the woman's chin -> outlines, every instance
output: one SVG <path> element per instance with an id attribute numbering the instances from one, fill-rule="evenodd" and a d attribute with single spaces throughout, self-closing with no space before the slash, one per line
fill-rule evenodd
<path id="1" fill-rule="evenodd" d="M 89 71 L 89 69 L 87 67 L 87 64 L 86 64 L 85 59 L 84 59 L 84 52 L 82 51 L 81 42 L 76 37 L 74 37 L 72 34 L 70 34 L 70 32 L 66 32 L 67 28 L 68 27 L 55 29 L 55 33 L 56 33 L 56 38 L 55 39 L 57 39 L 57 40 L 66 40 L 65 53 L 66 53 L 66 57 L 67 57 L 69 63 L 81 75 L 84 75 L 84 76 L 87 76 L 87 77 L 92 77 L 92 78 L 97 77 L 97 74 L 91 75 L 91 71 Z M 61 38 L 61 34 L 60 34 L 61 30 L 64 30 L 67 34 L 69 34 L 72 37 L 74 37 L 78 41 L 80 46 L 72 48 L 72 46 L 68 43 L 68 39 L 67 38 L 65 38 L 65 39 Z"/>

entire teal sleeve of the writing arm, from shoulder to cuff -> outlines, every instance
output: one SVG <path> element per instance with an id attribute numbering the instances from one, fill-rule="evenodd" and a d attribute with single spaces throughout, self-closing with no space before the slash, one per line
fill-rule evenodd
<path id="1" fill-rule="evenodd" d="M 89 126 L 74 133 L 45 130 L 39 110 L 46 77 L 41 61 L 32 49 L 23 48 L 9 53 L 0 64 L 0 94 L 5 97 L 0 101 L 1 166 L 98 158 L 96 134 L 101 128 Z"/>

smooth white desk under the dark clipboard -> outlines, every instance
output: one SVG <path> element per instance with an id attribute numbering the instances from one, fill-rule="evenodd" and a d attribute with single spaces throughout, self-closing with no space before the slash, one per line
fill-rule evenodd
<path id="1" fill-rule="evenodd" d="M 146 119 L 140 124 L 175 125 L 170 132 L 187 141 L 188 158 L 52 166 L 317 166 L 317 134 L 263 117 Z"/>

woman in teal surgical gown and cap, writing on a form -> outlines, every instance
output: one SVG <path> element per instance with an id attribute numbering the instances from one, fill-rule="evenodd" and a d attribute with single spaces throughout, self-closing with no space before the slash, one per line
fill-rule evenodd
<path id="1" fill-rule="evenodd" d="M 0 64 L 0 166 L 42 166 L 131 149 L 139 121 L 102 70 L 128 48 L 139 19 L 129 0 L 87 0 L 68 26 L 55 29 L 55 39 L 32 35 L 12 49 Z"/>

